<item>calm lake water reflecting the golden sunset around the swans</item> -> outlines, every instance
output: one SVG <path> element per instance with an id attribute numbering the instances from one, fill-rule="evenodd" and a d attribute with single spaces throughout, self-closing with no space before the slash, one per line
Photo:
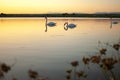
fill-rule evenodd
<path id="1" fill-rule="evenodd" d="M 70 62 L 98 51 L 98 42 L 120 41 L 120 19 L 112 24 L 104 18 L 48 18 L 55 27 L 45 26 L 44 18 L 0 18 L 0 62 L 13 64 L 6 75 L 28 80 L 33 69 L 49 80 L 64 80 Z M 74 23 L 64 30 L 64 23 Z"/>

